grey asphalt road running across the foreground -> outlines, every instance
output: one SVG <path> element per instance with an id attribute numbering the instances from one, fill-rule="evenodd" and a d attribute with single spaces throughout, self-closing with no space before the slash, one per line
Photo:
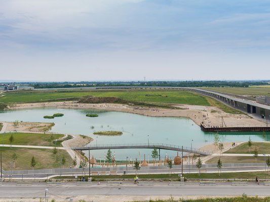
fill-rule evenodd
<path id="1" fill-rule="evenodd" d="M 0 198 L 17 198 L 17 197 L 44 197 L 45 188 L 48 188 L 48 195 L 58 195 L 64 197 L 76 197 L 81 195 L 177 195 L 177 196 L 236 196 L 242 195 L 259 195 L 269 196 L 270 187 L 256 185 L 255 183 L 248 186 L 231 186 L 230 183 L 221 183 L 216 186 L 199 186 L 184 185 L 184 186 L 168 186 L 164 183 L 155 183 L 153 186 L 138 186 L 138 185 L 89 185 L 89 186 L 3 186 L 0 187 Z"/>

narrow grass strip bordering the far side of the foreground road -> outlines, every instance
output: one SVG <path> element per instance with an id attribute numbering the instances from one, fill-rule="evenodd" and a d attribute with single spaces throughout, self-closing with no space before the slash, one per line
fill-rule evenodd
<path id="1" fill-rule="evenodd" d="M 138 172 L 140 175 L 140 179 L 175 179 L 178 180 L 179 176 L 178 174 L 171 174 L 171 177 L 169 176 L 169 173 L 166 174 L 140 174 L 140 171 Z M 197 173 L 186 173 L 183 174 L 183 176 L 187 179 L 198 179 Z M 219 176 L 219 173 L 201 173 L 201 179 L 254 179 L 258 176 L 259 178 L 270 178 L 270 175 L 268 175 L 267 172 L 240 172 L 240 173 L 221 173 Z M 74 179 L 74 176 L 60 176 L 60 177 L 54 177 L 57 179 Z M 134 175 L 99 175 L 99 176 L 93 176 L 94 180 L 99 179 L 133 179 Z"/>

